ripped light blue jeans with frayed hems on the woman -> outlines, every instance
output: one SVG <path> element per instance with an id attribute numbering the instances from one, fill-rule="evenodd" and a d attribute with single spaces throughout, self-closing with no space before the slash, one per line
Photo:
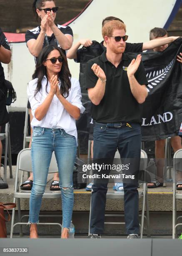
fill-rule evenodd
<path id="1" fill-rule="evenodd" d="M 77 143 L 75 136 L 63 129 L 34 127 L 32 134 L 33 187 L 30 196 L 29 223 L 39 222 L 52 152 L 55 151 L 62 196 L 62 228 L 69 228 L 74 203 L 72 173 Z M 56 171 L 56 170 L 55 170 Z"/>

